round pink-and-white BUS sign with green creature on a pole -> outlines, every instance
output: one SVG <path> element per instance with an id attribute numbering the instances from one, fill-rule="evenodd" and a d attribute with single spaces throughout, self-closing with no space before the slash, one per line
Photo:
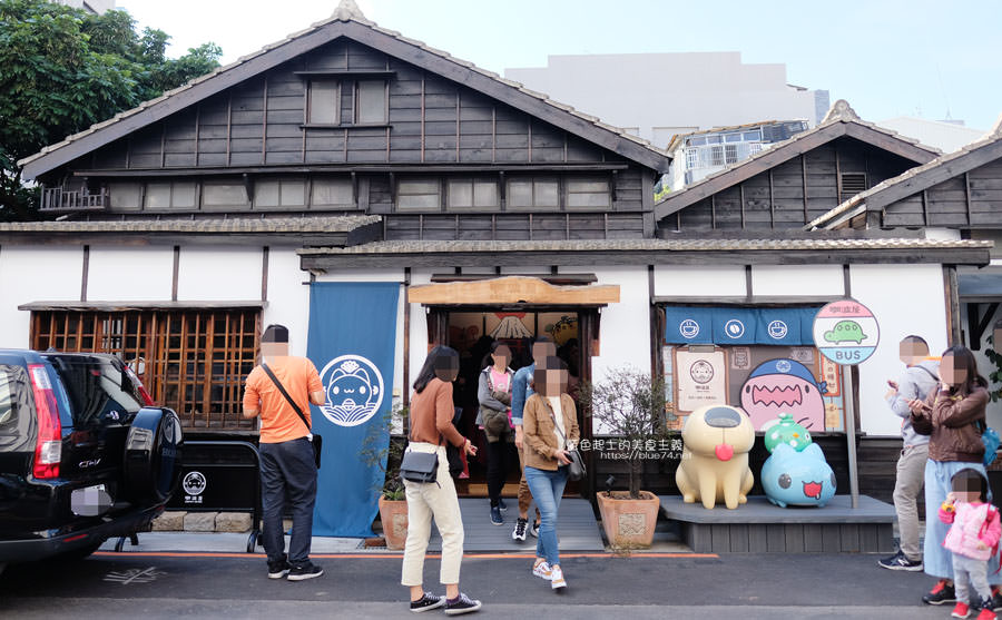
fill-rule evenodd
<path id="1" fill-rule="evenodd" d="M 880 342 L 876 317 L 855 299 L 832 302 L 814 318 L 814 345 L 836 364 L 853 366 L 865 362 Z"/>

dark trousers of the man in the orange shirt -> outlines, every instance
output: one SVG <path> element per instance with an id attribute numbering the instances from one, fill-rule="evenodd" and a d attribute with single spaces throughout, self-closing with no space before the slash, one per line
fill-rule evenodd
<path id="1" fill-rule="evenodd" d="M 261 501 L 263 524 L 261 542 L 269 562 L 285 558 L 282 513 L 286 499 L 293 515 L 288 563 L 298 567 L 310 561 L 313 539 L 313 504 L 316 503 L 316 464 L 313 445 L 306 437 L 282 443 L 263 443 L 261 451 Z"/>

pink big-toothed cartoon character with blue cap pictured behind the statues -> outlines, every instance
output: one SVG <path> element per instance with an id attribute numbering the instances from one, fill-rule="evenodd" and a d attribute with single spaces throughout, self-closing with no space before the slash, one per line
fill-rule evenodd
<path id="1" fill-rule="evenodd" d="M 807 366 L 796 360 L 769 360 L 752 371 L 741 385 L 741 407 L 757 431 L 780 412 L 789 413 L 805 429 L 824 431 L 822 396 L 826 390 L 826 384 L 818 383 Z"/>

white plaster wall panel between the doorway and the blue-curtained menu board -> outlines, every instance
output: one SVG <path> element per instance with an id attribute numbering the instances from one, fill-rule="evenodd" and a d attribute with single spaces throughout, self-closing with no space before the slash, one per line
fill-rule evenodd
<path id="1" fill-rule="evenodd" d="M 601 311 L 599 355 L 591 358 L 591 377 L 600 383 L 615 370 L 632 366 L 650 372 L 650 296 L 647 267 L 598 267 L 598 283 L 619 285 L 619 303 Z M 596 434 L 608 434 L 595 421 Z"/>

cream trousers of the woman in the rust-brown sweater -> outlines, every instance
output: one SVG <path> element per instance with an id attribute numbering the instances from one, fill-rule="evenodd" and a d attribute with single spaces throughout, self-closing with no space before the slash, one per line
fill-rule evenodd
<path id="1" fill-rule="evenodd" d="M 407 495 L 407 542 L 401 583 L 421 585 L 424 581 L 424 553 L 431 537 L 431 522 L 435 520 L 442 534 L 442 567 L 439 581 L 459 583 L 460 563 L 463 561 L 463 519 L 459 510 L 455 485 L 449 475 L 445 446 L 432 443 L 411 443 L 407 450 L 439 453 L 439 478 L 435 483 L 404 481 Z"/>

